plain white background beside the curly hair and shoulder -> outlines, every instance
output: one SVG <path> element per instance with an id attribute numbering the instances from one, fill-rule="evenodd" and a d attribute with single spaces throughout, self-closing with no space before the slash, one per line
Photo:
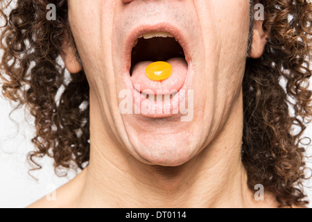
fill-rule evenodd
<path id="1" fill-rule="evenodd" d="M 0 207 L 26 207 L 64 185 L 75 174 L 70 172 L 68 178 L 58 178 L 54 174 L 53 161 L 44 158 L 40 162 L 43 169 L 32 172 L 37 180 L 29 176 L 26 155 L 34 149 L 31 143 L 35 134 L 33 118 L 25 114 L 26 110 L 19 109 L 13 112 L 14 121 L 11 121 L 8 118 L 11 110 L 10 103 L 0 96 Z M 312 137 L 312 124 L 306 135 Z M 312 155 L 311 148 L 308 154 Z M 311 162 L 308 166 L 312 168 Z M 312 185 L 312 179 L 306 185 Z M 312 201 L 311 188 L 306 188 L 306 194 Z"/>

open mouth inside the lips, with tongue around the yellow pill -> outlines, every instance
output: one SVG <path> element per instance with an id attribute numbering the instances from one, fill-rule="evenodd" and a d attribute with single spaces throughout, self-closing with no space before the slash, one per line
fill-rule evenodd
<path id="1" fill-rule="evenodd" d="M 171 64 L 171 77 L 157 82 L 146 77 L 146 67 L 157 61 Z M 184 50 L 170 33 L 145 33 L 135 41 L 131 53 L 130 76 L 135 89 L 146 99 L 155 102 L 173 99 L 184 85 L 187 69 Z M 135 85 L 139 85 L 139 89 Z"/>

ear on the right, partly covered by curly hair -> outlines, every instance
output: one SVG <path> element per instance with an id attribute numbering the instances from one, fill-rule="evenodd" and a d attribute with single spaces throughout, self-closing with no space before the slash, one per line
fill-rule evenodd
<path id="1" fill-rule="evenodd" d="M 251 58 L 260 58 L 264 51 L 264 46 L 266 46 L 266 33 L 264 33 L 262 20 L 254 21 L 254 33 L 252 36 L 252 49 L 250 51 Z"/>

